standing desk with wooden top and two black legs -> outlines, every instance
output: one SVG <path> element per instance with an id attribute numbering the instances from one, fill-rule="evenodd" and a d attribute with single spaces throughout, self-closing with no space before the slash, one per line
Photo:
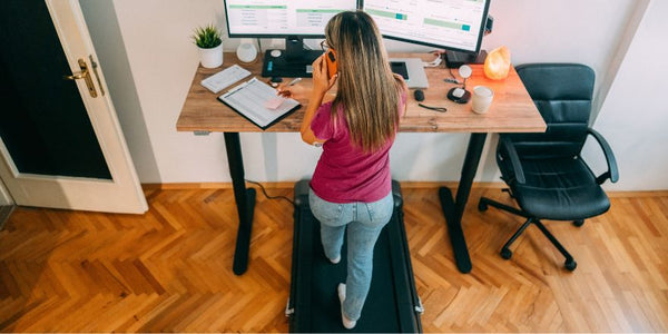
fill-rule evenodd
<path id="1" fill-rule="evenodd" d="M 424 60 L 433 58 L 432 55 L 428 53 L 393 53 L 391 56 L 393 58 L 416 57 L 424 58 Z M 259 61 L 259 58 L 249 65 L 238 61 L 235 53 L 225 53 L 224 59 L 225 63 L 223 67 L 225 68 L 232 63 L 239 63 L 242 67 L 248 69 L 253 76 L 261 76 L 262 61 Z M 487 114 L 478 115 L 471 111 L 471 102 L 458 105 L 449 101 L 445 95 L 454 86 L 443 81 L 443 79 L 451 77 L 450 71 L 443 68 L 425 68 L 430 87 L 424 90 L 425 100 L 423 104 L 428 106 L 446 106 L 448 112 L 436 112 L 421 108 L 412 97 L 412 94 L 410 94 L 407 110 L 400 120 L 399 129 L 402 132 L 471 134 L 456 194 L 453 197 L 450 188 L 439 188 L 441 207 L 445 216 L 456 266 L 462 273 L 469 273 L 472 268 L 462 230 L 462 215 L 469 199 L 488 132 L 543 132 L 547 129 L 546 122 L 514 68 L 511 68 L 510 75 L 505 80 L 492 81 L 484 77 L 481 65 L 473 65 L 471 67 L 473 75 L 466 81 L 468 89 L 472 90 L 477 85 L 485 85 L 494 90 L 494 100 Z M 239 132 L 261 132 L 262 129 L 219 102 L 216 97 L 223 92 L 214 95 L 199 85 L 204 78 L 220 70 L 222 68 L 206 69 L 199 67 L 197 69 L 176 122 L 176 129 L 178 131 L 215 131 L 224 134 L 227 163 L 229 165 L 234 197 L 239 217 L 233 272 L 236 275 L 242 275 L 248 267 L 248 249 L 256 193 L 254 188 L 246 188 L 245 185 Z M 456 75 L 456 69 L 452 71 Z M 252 77 L 238 84 L 249 78 Z M 311 79 L 305 78 L 301 85 L 311 85 Z M 308 100 L 304 99 L 299 100 L 299 102 L 302 104 L 301 109 L 265 131 L 298 132 Z"/>

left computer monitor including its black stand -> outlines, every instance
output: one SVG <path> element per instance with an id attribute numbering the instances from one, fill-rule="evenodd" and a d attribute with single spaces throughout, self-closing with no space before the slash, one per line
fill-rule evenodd
<path id="1" fill-rule="evenodd" d="M 333 16 L 356 9 L 356 0 L 225 0 L 230 38 L 285 38 L 285 50 L 265 53 L 263 77 L 311 77 L 322 50 L 304 50 L 304 38 L 324 38 Z"/>

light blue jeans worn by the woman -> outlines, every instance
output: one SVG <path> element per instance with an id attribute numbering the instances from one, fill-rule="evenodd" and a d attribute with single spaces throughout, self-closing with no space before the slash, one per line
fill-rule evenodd
<path id="1" fill-rule="evenodd" d="M 362 306 L 371 286 L 373 247 L 381 229 L 392 217 L 392 193 L 373 203 L 331 203 L 308 191 L 308 205 L 313 216 L 321 222 L 321 239 L 327 258 L 341 255 L 343 235 L 347 232 L 346 296 L 342 312 L 352 321 L 360 318 Z"/>

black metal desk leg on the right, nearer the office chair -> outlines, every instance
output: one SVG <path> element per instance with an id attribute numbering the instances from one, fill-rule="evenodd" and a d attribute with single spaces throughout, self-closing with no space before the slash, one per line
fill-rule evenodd
<path id="1" fill-rule="evenodd" d="M 462 176 L 456 188 L 456 198 L 453 200 L 452 191 L 448 187 L 439 188 L 439 198 L 441 199 L 441 208 L 443 208 L 443 215 L 445 215 L 445 222 L 448 223 L 448 233 L 452 243 L 454 261 L 456 262 L 456 267 L 462 273 L 470 273 L 472 268 L 466 239 L 462 230 L 462 215 L 469 200 L 473 177 L 475 177 L 475 170 L 480 163 L 485 138 L 487 134 L 471 134 L 469 147 L 466 148 L 466 157 L 462 167 Z"/>

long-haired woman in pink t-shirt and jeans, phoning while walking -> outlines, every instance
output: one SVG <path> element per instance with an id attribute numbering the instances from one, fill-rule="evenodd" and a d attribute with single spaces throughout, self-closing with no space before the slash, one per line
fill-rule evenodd
<path id="1" fill-rule="evenodd" d="M 341 261 L 347 227 L 347 277 L 337 292 L 343 325 L 350 330 L 369 293 L 375 242 L 394 209 L 389 150 L 407 88 L 401 76 L 392 73 L 369 14 L 336 14 L 325 27 L 324 43 L 323 50 L 335 50 L 337 73 L 328 78 L 323 55 L 313 62 L 311 91 L 296 86 L 279 94 L 310 94 L 302 139 L 322 145 L 323 154 L 311 180 L 308 203 L 321 222 L 323 248 L 333 264 Z M 335 82 L 336 95 L 327 95 Z"/>

